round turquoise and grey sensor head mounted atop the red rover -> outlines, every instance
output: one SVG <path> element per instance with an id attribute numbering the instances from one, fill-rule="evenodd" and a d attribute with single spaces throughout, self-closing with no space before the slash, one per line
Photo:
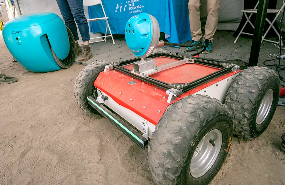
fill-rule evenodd
<path id="1" fill-rule="evenodd" d="M 132 52 L 141 58 L 152 53 L 159 40 L 159 24 L 152 15 L 141 13 L 131 17 L 125 28 L 126 42 Z"/>

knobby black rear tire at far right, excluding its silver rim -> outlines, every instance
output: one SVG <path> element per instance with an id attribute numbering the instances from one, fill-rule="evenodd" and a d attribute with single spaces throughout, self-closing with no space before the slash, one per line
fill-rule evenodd
<path id="1" fill-rule="evenodd" d="M 261 124 L 257 124 L 257 112 L 268 89 L 273 90 L 270 111 Z M 225 98 L 233 116 L 234 135 L 252 139 L 262 134 L 269 125 L 280 96 L 278 75 L 266 67 L 249 67 L 237 75 Z"/>

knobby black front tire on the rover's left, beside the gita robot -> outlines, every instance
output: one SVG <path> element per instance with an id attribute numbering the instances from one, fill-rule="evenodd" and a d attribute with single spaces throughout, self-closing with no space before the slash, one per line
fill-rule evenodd
<path id="1" fill-rule="evenodd" d="M 76 78 L 73 89 L 74 98 L 79 107 L 87 114 L 100 115 L 88 104 L 87 96 L 93 95 L 95 90 L 94 82 L 99 73 L 104 71 L 105 65 L 106 63 L 103 61 L 94 61 L 84 67 Z"/>

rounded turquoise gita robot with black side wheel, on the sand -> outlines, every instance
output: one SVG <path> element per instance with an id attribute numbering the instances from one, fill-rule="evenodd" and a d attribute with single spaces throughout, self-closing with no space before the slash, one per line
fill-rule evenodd
<path id="1" fill-rule="evenodd" d="M 72 32 L 54 13 L 16 17 L 3 28 L 5 44 L 13 57 L 33 72 L 71 67 L 75 60 Z"/>

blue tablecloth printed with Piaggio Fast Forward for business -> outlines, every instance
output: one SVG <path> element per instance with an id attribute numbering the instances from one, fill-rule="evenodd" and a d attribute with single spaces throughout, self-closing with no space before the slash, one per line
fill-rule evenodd
<path id="1" fill-rule="evenodd" d="M 145 12 L 158 20 L 160 32 L 166 34 L 169 42 L 182 43 L 192 40 L 188 0 L 103 0 L 102 2 L 106 16 L 109 17 L 112 34 L 125 34 L 125 25 L 129 18 Z M 89 18 L 104 17 L 101 5 L 88 7 L 88 12 Z M 93 33 L 105 34 L 105 28 L 105 20 L 90 22 L 90 31 Z"/>

